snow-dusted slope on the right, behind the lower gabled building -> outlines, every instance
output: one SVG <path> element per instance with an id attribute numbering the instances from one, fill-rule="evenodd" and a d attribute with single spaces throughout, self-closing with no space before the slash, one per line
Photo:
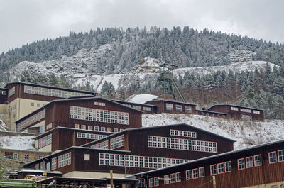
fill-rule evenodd
<path id="1" fill-rule="evenodd" d="M 235 150 L 284 139 L 284 121 L 280 120 L 266 122 L 232 121 L 185 114 L 144 114 L 142 118 L 144 127 L 187 123 L 206 131 L 212 131 L 212 133 L 236 140 L 236 143 L 234 143 Z"/>

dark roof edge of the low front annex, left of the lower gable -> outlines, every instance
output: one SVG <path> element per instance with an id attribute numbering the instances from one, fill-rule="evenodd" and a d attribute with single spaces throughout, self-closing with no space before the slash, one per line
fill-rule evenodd
<path id="1" fill-rule="evenodd" d="M 101 151 L 118 152 L 118 153 L 130 153 L 129 150 L 109 150 L 109 149 L 102 149 L 102 148 L 86 148 L 86 147 L 82 147 L 82 146 L 71 146 L 71 147 L 66 148 L 64 150 L 58 151 L 57 153 L 52 153 L 52 154 L 50 154 L 48 156 L 42 157 L 41 159 L 34 160 L 32 162 L 27 162 L 25 165 L 31 165 L 33 163 L 36 163 L 36 162 L 39 162 L 39 161 L 43 161 L 45 158 L 52 157 L 54 155 L 60 155 L 61 153 L 65 153 L 66 151 L 72 150 L 72 149 L 101 150 Z"/>

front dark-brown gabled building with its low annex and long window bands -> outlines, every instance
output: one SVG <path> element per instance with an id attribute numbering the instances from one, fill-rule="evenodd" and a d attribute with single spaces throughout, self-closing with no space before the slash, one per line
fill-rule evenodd
<path id="1" fill-rule="evenodd" d="M 234 140 L 187 124 L 131 128 L 35 160 L 27 168 L 66 177 L 124 177 L 233 150 Z"/>

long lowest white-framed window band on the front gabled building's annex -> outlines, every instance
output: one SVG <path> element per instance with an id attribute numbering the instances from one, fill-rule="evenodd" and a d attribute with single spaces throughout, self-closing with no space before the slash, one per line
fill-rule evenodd
<path id="1" fill-rule="evenodd" d="M 189 160 L 148 157 L 138 155 L 120 155 L 113 153 L 99 153 L 99 165 L 126 166 L 126 167 L 143 167 L 143 168 L 161 168 L 172 165 L 182 164 Z"/>

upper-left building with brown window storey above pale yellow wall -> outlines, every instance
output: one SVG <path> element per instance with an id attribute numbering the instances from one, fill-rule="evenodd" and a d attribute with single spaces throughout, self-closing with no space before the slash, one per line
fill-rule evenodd
<path id="1" fill-rule="evenodd" d="M 4 122 L 9 131 L 16 131 L 18 119 L 30 114 L 55 99 L 64 99 L 70 96 L 95 95 L 95 92 L 86 92 L 76 89 L 50 87 L 40 84 L 12 82 L 0 89 L 0 104 L 5 104 L 9 118 Z M 0 106 L 1 107 L 1 106 Z"/>

